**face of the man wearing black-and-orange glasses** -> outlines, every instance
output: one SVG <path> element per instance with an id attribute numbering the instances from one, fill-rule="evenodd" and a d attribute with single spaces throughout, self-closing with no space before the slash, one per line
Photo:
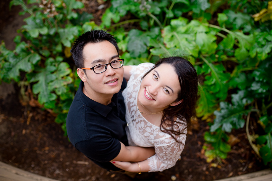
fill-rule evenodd
<path id="1" fill-rule="evenodd" d="M 109 41 L 88 43 L 83 48 L 83 56 L 84 67 L 86 68 L 91 68 L 101 63 L 111 63 L 119 59 L 116 48 Z M 85 82 L 84 86 L 89 94 L 87 96 L 96 100 L 119 92 L 123 81 L 124 68 L 112 69 L 108 65 L 107 70 L 100 74 L 95 74 L 93 70 L 86 70 L 86 75 L 82 81 Z"/>

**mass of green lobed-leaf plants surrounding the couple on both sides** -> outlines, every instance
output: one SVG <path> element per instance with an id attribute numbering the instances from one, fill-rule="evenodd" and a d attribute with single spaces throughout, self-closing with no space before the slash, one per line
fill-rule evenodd
<path id="1" fill-rule="evenodd" d="M 99 26 L 90 21 L 91 14 L 81 11 L 80 1 L 37 2 L 39 6 L 34 1 L 28 1 L 29 5 L 22 0 L 11 2 L 23 7 L 21 14 L 30 16 L 20 29 L 23 39 L 14 39 L 15 50 L 0 46 L 0 78 L 31 87 L 43 108 L 57 115 L 55 121 L 64 131 L 80 81 L 69 64 L 71 44 L 82 32 L 104 28 L 115 35 L 126 65 L 181 55 L 195 66 L 200 76 L 197 117 L 214 118 L 204 135 L 208 162 L 225 159 L 231 150 L 228 134 L 246 127 L 256 154 L 264 164 L 271 163 L 270 2 L 111 0 Z M 254 21 L 251 14 L 258 12 L 265 21 Z M 251 112 L 265 133 L 250 135 Z"/>

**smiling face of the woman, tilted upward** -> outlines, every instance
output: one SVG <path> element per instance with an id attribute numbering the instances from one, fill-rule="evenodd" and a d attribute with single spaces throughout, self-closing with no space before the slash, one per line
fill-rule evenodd
<path id="1" fill-rule="evenodd" d="M 163 110 L 180 103 L 176 102 L 179 91 L 179 79 L 174 68 L 163 63 L 145 76 L 138 100 L 150 110 Z"/>

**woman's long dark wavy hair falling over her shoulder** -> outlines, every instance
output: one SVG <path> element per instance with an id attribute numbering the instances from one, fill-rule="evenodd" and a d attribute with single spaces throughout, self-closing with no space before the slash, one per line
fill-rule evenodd
<path id="1" fill-rule="evenodd" d="M 195 116 L 196 103 L 199 98 L 198 95 L 198 79 L 197 73 L 194 66 L 186 59 L 174 56 L 169 58 L 162 58 L 142 77 L 145 78 L 147 74 L 150 73 L 153 69 L 157 68 L 161 64 L 171 65 L 176 74 L 179 77 L 180 92 L 178 93 L 178 98 L 176 100 L 183 100 L 180 104 L 176 106 L 169 106 L 163 110 L 163 117 L 161 119 L 160 130 L 164 133 L 171 135 L 175 141 L 181 143 L 175 135 L 185 134 L 184 131 L 191 123 L 192 116 Z M 178 121 L 176 118 L 179 118 Z M 186 124 L 182 120 L 186 121 Z M 184 124 L 186 127 L 180 130 L 178 124 Z M 170 129 L 166 129 L 169 127 Z"/>

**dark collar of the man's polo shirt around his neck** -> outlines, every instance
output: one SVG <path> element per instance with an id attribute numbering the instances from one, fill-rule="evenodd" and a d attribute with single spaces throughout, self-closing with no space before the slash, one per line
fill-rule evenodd
<path id="1" fill-rule="evenodd" d="M 102 116 L 106 117 L 109 114 L 109 112 L 111 112 L 113 107 L 116 107 L 116 109 L 118 109 L 118 106 L 117 106 L 118 93 L 113 95 L 113 97 L 111 98 L 111 103 L 109 103 L 108 105 L 103 105 L 99 102 L 96 102 L 96 101 L 90 99 L 88 96 L 86 96 L 82 91 L 83 87 L 84 87 L 84 83 L 83 83 L 83 81 L 80 81 L 78 91 L 80 92 L 81 100 L 88 107 L 91 107 L 93 110 L 95 110 L 96 112 L 98 112 Z"/>

